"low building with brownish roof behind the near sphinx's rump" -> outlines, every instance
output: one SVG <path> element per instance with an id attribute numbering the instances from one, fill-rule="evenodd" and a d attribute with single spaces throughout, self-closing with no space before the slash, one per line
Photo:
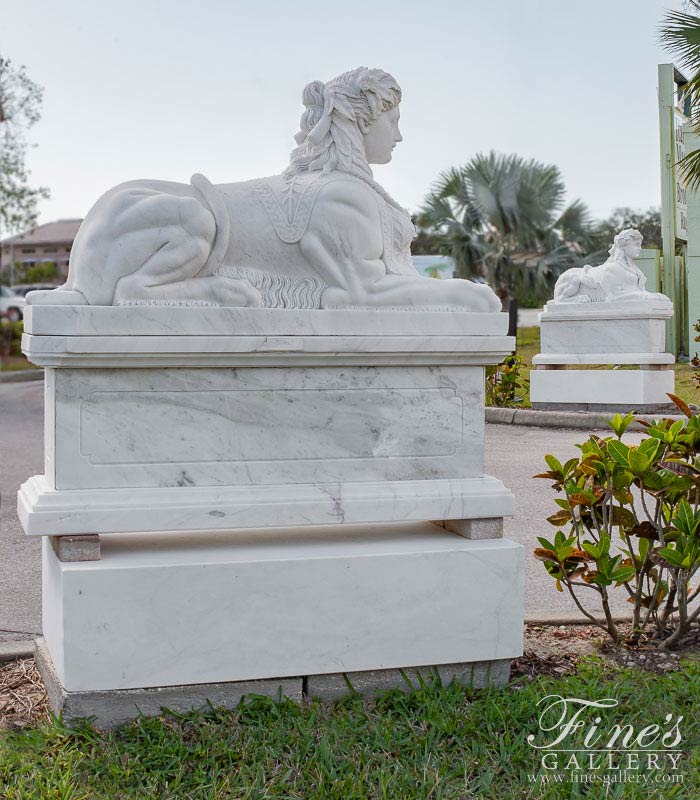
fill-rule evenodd
<path id="1" fill-rule="evenodd" d="M 55 264 L 60 277 L 68 275 L 73 240 L 82 219 L 59 219 L 31 231 L 8 236 L 0 242 L 0 261 L 7 268 L 12 261 L 22 267 Z"/>

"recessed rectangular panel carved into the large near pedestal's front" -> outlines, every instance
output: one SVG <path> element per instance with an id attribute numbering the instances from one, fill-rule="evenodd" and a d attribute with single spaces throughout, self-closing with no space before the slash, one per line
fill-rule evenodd
<path id="1" fill-rule="evenodd" d="M 462 400 L 445 389 L 93 392 L 80 416 L 91 464 L 442 456 L 462 444 Z"/>

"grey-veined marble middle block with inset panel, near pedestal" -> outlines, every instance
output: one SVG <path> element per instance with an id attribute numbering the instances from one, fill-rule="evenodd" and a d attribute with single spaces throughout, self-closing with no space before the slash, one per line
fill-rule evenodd
<path id="1" fill-rule="evenodd" d="M 481 367 L 52 370 L 50 477 L 57 489 L 478 477 L 483 391 Z"/>

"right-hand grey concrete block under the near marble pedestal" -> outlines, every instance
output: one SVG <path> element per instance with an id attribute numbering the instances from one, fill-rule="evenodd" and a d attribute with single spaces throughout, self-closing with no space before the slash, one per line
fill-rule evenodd
<path id="1" fill-rule="evenodd" d="M 407 669 L 379 669 L 366 672 L 310 675 L 306 678 L 304 693 L 313 700 L 337 700 L 350 693 L 369 697 L 389 689 L 411 691 L 421 679 L 429 683 L 434 677 L 443 686 L 452 681 L 462 686 L 483 689 L 485 686 L 505 686 L 510 677 L 510 659 L 476 661 L 470 664 L 441 664 L 433 667 L 408 667 Z"/>

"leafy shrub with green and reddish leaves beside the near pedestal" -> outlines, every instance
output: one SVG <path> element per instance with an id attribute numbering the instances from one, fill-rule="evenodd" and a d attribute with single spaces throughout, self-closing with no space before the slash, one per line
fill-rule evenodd
<path id="1" fill-rule="evenodd" d="M 616 414 L 608 423 L 614 436 L 591 435 L 577 445 L 581 456 L 563 464 L 547 455 L 548 471 L 535 476 L 563 494 L 547 520 L 558 529 L 553 540 L 538 537 L 534 551 L 556 588 L 614 641 L 622 636 L 610 596 L 626 592 L 633 607 L 627 642 L 644 635 L 660 648 L 700 619 L 700 587 L 693 587 L 700 570 L 700 417 L 669 397 L 685 419 L 637 420 L 647 437 L 627 445 L 622 436 L 634 413 Z M 583 607 L 583 593 L 598 595 L 604 622 Z"/>

